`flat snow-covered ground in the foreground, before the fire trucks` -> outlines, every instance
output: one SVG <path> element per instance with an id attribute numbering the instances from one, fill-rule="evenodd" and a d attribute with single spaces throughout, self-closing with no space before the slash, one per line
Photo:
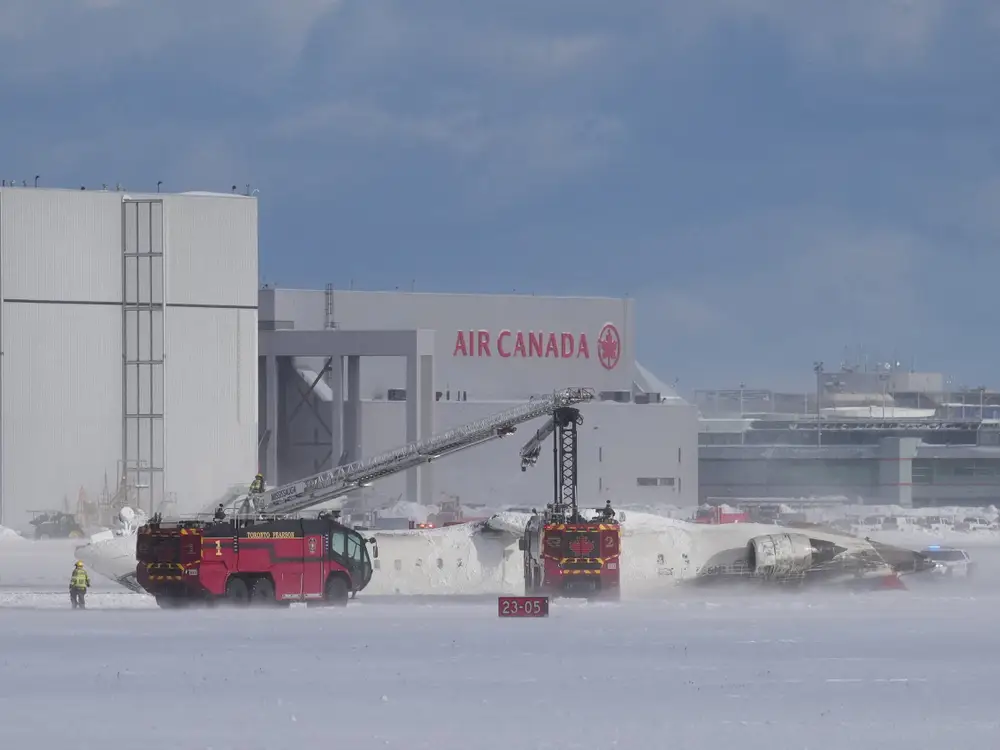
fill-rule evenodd
<path id="1" fill-rule="evenodd" d="M 992 592 L 685 593 L 520 621 L 419 601 L 4 609 L 0 747 L 919 750 L 1000 731 Z"/>

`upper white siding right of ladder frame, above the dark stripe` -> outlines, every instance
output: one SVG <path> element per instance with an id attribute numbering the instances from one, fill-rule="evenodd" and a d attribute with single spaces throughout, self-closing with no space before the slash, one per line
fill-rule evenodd
<path id="1" fill-rule="evenodd" d="M 167 303 L 257 306 L 257 201 L 163 197 Z"/>

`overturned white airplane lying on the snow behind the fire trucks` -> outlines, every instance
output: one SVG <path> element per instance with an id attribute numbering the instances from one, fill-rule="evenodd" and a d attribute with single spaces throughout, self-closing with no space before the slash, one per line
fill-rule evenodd
<path id="1" fill-rule="evenodd" d="M 235 493 L 228 500 L 239 503 Z M 445 528 L 372 531 L 380 566 L 365 593 L 520 594 L 523 553 L 517 542 L 529 518 L 503 512 Z M 95 572 L 139 591 L 134 524 L 95 535 L 77 554 Z M 920 552 L 819 525 L 704 525 L 629 512 L 621 528 L 626 598 L 666 594 L 678 584 L 898 588 L 899 576 L 935 566 Z"/>

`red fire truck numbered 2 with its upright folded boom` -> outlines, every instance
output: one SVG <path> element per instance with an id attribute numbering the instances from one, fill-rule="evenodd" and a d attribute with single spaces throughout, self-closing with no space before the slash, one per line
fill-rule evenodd
<path id="1" fill-rule="evenodd" d="M 578 409 L 556 409 L 521 449 L 521 469 L 534 466 L 553 437 L 554 496 L 528 520 L 518 546 L 524 554 L 524 590 L 537 595 L 621 597 L 621 526 L 609 500 L 587 519 L 577 503 Z"/>

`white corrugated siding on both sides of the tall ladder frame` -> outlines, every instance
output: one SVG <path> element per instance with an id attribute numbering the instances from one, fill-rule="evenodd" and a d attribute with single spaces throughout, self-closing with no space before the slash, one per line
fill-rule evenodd
<path id="1" fill-rule="evenodd" d="M 121 458 L 121 193 L 0 191 L 6 299 L 108 305 L 3 307 L 4 501 L 75 508 Z M 164 201 L 167 301 L 256 306 L 256 201 Z M 256 467 L 256 311 L 168 308 L 166 469 L 180 510 L 201 507 Z"/>

